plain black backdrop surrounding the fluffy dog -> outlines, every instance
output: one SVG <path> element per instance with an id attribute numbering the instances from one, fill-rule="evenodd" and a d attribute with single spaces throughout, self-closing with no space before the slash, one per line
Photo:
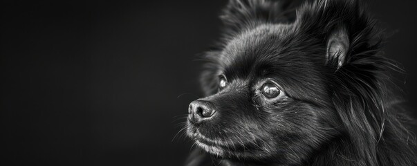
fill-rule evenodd
<path id="1" fill-rule="evenodd" d="M 414 110 L 417 1 L 398 2 L 369 7 Z M 182 165 L 191 143 L 172 139 L 224 4 L 3 1 L 0 165 Z"/>

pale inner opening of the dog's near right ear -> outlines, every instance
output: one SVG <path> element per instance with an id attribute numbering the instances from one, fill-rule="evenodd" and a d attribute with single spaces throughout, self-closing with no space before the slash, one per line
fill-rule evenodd
<path id="1" fill-rule="evenodd" d="M 349 35 L 345 28 L 331 31 L 326 44 L 326 64 L 337 64 L 337 69 L 342 67 L 346 62 L 349 45 Z"/>

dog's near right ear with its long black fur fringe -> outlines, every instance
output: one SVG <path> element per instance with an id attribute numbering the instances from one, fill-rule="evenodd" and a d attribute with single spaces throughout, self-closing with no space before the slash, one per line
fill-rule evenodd
<path id="1" fill-rule="evenodd" d="M 297 9 L 295 30 L 306 39 L 319 40 L 321 46 L 311 47 L 326 46 L 322 57 L 335 69 L 351 64 L 359 55 L 375 55 L 383 39 L 359 0 L 307 0 Z"/>

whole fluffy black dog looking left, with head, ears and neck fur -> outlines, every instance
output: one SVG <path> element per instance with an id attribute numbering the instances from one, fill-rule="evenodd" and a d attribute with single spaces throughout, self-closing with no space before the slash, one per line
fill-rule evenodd
<path id="1" fill-rule="evenodd" d="M 223 10 L 187 165 L 417 165 L 376 21 L 354 0 L 300 3 Z"/>

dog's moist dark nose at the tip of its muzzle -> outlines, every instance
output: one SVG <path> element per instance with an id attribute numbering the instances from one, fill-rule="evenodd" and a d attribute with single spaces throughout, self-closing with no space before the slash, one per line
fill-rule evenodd
<path id="1" fill-rule="evenodd" d="M 207 120 L 216 113 L 213 105 L 204 100 L 195 100 L 191 102 L 188 107 L 188 120 L 193 123 L 198 123 Z"/>

